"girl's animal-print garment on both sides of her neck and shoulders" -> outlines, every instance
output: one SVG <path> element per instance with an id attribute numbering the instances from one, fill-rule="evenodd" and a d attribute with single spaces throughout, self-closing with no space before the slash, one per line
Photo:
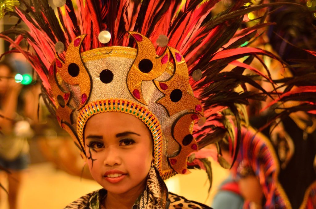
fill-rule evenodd
<path id="1" fill-rule="evenodd" d="M 100 202 L 106 198 L 106 190 L 100 189 L 70 203 L 64 209 L 100 209 Z M 149 170 L 147 186 L 131 209 L 211 209 L 198 202 L 189 201 L 184 197 L 168 193 L 155 168 Z"/>

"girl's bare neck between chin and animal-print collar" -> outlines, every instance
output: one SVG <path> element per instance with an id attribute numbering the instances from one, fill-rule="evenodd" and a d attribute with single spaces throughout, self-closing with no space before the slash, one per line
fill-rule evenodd
<path id="1" fill-rule="evenodd" d="M 137 198 L 143 193 L 146 188 L 147 179 L 144 179 L 141 183 L 134 188 L 128 190 L 122 194 L 115 194 L 107 192 L 106 198 L 101 203 L 106 209 L 122 208 L 131 209 Z"/>

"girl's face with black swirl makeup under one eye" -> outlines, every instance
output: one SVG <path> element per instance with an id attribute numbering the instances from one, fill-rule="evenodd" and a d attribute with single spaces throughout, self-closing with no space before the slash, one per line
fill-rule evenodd
<path id="1" fill-rule="evenodd" d="M 141 120 L 122 112 L 96 114 L 86 123 L 84 140 L 91 175 L 108 192 L 146 184 L 153 145 Z"/>

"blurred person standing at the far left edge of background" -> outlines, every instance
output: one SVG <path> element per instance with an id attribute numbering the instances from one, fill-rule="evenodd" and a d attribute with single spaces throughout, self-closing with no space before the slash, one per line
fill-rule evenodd
<path id="1" fill-rule="evenodd" d="M 10 209 L 18 208 L 17 198 L 23 170 L 29 164 L 27 136 L 32 135 L 29 122 L 19 115 L 18 98 L 22 85 L 15 82 L 14 70 L 6 62 L 0 63 L 0 166 L 10 171 L 8 199 Z"/>

